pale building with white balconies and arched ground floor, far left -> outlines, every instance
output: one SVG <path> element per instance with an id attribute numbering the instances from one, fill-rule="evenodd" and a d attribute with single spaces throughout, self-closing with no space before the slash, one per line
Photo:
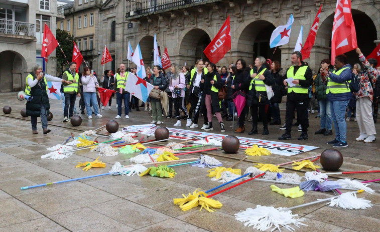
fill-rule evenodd
<path id="1" fill-rule="evenodd" d="M 41 48 L 45 23 L 55 35 L 57 17 L 56 0 L 0 1 L 0 92 L 23 90 L 36 63 L 55 74 L 55 51 L 46 63 Z"/>

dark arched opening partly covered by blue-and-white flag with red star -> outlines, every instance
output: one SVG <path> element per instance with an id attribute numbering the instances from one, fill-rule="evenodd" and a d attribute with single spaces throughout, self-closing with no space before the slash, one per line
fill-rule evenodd
<path id="1" fill-rule="evenodd" d="M 273 24 L 265 20 L 252 22 L 244 28 L 240 34 L 237 49 L 247 64 L 252 64 L 258 56 L 281 62 L 281 50 L 277 48 L 275 52 L 275 49 L 271 49 L 269 46 L 272 32 L 275 29 Z"/>

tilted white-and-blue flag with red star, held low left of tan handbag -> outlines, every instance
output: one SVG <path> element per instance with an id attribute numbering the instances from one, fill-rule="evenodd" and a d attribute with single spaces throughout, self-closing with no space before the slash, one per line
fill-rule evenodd
<path id="1" fill-rule="evenodd" d="M 144 81 L 140 77 L 137 77 L 133 73 L 130 73 L 128 75 L 128 79 L 126 79 L 125 91 L 130 92 L 131 97 L 133 95 L 143 102 L 147 102 L 147 99 L 153 87 L 153 85 Z"/>

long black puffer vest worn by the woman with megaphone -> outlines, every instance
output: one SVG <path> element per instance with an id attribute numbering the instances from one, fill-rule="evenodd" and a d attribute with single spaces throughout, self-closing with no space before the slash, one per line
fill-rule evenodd
<path id="1" fill-rule="evenodd" d="M 33 80 L 35 80 L 37 77 L 30 73 L 33 76 Z M 45 79 L 45 77 L 44 77 Z M 49 104 L 49 98 L 48 94 L 46 92 L 46 84 L 44 79 L 41 79 L 39 84 L 35 85 L 30 95 L 33 97 L 32 101 L 27 102 L 26 109 L 27 109 L 27 115 L 28 116 L 37 116 L 40 117 L 41 115 L 41 103 L 45 105 L 46 115 L 50 114 L 50 104 Z"/>

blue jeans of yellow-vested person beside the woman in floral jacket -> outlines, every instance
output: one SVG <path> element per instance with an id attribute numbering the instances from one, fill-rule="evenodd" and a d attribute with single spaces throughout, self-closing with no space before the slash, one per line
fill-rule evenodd
<path id="1" fill-rule="evenodd" d="M 335 139 L 341 142 L 346 142 L 347 124 L 344 120 L 344 115 L 346 114 L 348 102 L 349 100 L 333 101 L 330 104 L 331 120 L 334 123 L 335 129 Z"/>

